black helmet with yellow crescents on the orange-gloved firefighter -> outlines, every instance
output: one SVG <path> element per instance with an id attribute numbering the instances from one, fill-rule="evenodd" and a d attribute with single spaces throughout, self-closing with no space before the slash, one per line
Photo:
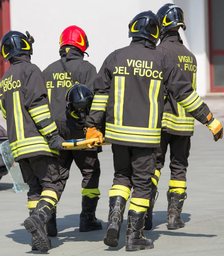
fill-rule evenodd
<path id="1" fill-rule="evenodd" d="M 152 12 L 141 12 L 129 23 L 129 37 L 143 37 L 157 44 L 160 35 L 159 18 Z"/>

